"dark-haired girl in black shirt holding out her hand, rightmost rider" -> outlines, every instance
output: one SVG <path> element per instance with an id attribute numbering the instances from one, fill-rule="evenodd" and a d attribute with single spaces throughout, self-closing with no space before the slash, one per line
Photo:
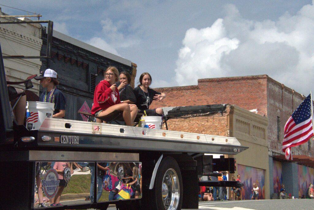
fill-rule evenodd
<path id="1" fill-rule="evenodd" d="M 149 73 L 144 72 L 139 77 L 140 85 L 134 88 L 134 95 L 136 97 L 135 104 L 139 109 L 139 113 L 146 112 L 147 116 L 161 116 L 163 114 L 163 110 L 161 108 L 149 109 L 149 105 L 153 102 L 153 100 L 161 101 L 166 97 L 166 94 L 159 93 L 151 88 L 149 85 L 152 82 L 152 77 Z"/>

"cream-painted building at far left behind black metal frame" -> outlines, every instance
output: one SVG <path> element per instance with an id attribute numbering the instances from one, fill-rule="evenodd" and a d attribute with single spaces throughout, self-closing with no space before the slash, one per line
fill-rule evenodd
<path id="1" fill-rule="evenodd" d="M 1 11 L 1 15 L 8 15 Z M 1 18 L 0 21 L 16 21 L 17 18 Z M 28 20 L 26 18 L 20 20 Z M 25 55 L 40 56 L 41 25 L 40 24 L 0 24 L 0 43 L 3 56 Z M 33 74 L 39 74 L 40 59 L 3 59 L 4 69 L 9 80 L 21 81 Z M 39 93 L 39 82 L 32 81 L 34 87 L 30 89 Z M 16 87 L 23 88 L 17 85 Z"/>

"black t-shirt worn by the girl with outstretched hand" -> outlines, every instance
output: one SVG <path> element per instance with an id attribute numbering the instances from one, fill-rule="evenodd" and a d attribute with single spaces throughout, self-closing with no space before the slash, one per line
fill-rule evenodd
<path id="1" fill-rule="evenodd" d="M 136 97 L 136 105 L 139 110 L 149 109 L 149 105 L 153 102 L 153 98 L 159 92 L 148 88 L 148 93 L 145 93 L 140 87 L 134 88 L 134 95 Z"/>

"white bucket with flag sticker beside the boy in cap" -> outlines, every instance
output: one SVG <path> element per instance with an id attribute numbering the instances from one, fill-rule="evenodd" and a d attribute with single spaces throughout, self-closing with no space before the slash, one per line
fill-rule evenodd
<path id="1" fill-rule="evenodd" d="M 26 102 L 26 128 L 38 130 L 46 117 L 52 117 L 55 104 L 39 101 Z"/>

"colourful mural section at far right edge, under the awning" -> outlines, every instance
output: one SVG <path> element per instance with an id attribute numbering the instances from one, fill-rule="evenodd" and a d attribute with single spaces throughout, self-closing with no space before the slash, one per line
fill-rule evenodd
<path id="1" fill-rule="evenodd" d="M 314 168 L 298 165 L 299 197 L 306 195 L 310 184 L 314 184 Z"/>

